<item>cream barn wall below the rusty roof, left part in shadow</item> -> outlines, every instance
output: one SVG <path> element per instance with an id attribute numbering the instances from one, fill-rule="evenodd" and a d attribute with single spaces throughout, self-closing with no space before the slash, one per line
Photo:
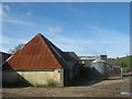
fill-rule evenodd
<path id="1" fill-rule="evenodd" d="M 3 72 L 3 82 L 26 80 L 33 86 L 62 86 L 62 70 L 53 72 Z"/>

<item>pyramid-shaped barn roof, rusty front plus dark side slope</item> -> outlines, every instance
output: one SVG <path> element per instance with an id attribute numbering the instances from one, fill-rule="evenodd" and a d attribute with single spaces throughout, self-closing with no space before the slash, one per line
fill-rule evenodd
<path id="1" fill-rule="evenodd" d="M 68 68 L 63 57 L 63 52 L 42 34 L 37 34 L 14 55 L 12 55 L 2 68 L 19 69 L 55 69 Z"/>

